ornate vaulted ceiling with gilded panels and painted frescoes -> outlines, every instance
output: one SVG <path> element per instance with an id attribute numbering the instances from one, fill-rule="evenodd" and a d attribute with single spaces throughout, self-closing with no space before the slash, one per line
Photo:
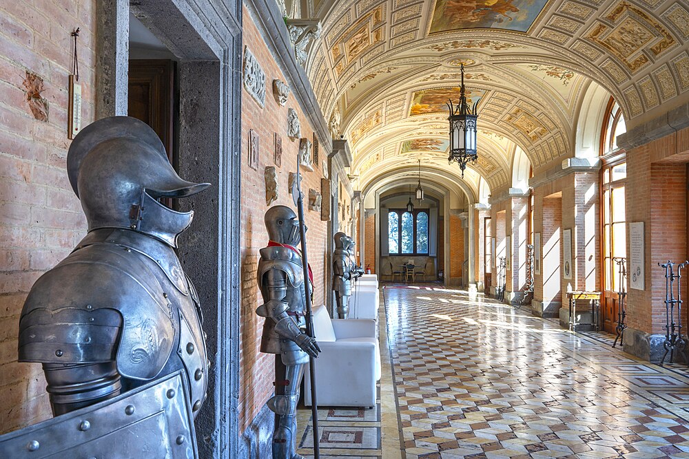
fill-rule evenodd
<path id="1" fill-rule="evenodd" d="M 686 0 L 309 0 L 322 20 L 307 74 L 349 140 L 359 186 L 419 158 L 446 162 L 460 65 L 478 101 L 472 173 L 509 186 L 521 147 L 535 171 L 573 156 L 592 81 L 628 127 L 689 100 Z M 442 166 L 442 158 L 445 158 Z M 455 170 L 456 169 L 456 170 Z"/>

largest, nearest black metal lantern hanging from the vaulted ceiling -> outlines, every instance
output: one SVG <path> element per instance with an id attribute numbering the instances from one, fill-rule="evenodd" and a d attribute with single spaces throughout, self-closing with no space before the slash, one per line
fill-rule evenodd
<path id="1" fill-rule="evenodd" d="M 462 169 L 462 178 L 464 178 L 464 169 L 466 164 L 475 164 L 478 159 L 476 151 L 476 105 L 469 107 L 466 103 L 466 95 L 464 88 L 464 64 L 460 67 L 462 71 L 462 86 L 460 87 L 460 103 L 456 106 L 449 101 L 447 106 L 450 109 L 450 116 L 447 118 L 450 122 L 450 156 L 447 158 L 449 163 L 453 161 L 460 164 Z"/>

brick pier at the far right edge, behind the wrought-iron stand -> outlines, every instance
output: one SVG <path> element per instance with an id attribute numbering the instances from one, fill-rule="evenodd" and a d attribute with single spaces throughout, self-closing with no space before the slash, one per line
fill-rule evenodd
<path id="1" fill-rule="evenodd" d="M 689 128 L 627 152 L 626 221 L 644 222 L 646 249 L 645 289 L 628 289 L 627 323 L 643 332 L 665 332 L 665 273 L 658 263 L 687 259 L 687 162 Z"/>

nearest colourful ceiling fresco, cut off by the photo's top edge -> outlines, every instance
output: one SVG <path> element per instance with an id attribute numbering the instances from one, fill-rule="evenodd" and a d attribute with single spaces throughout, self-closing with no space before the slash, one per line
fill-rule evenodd
<path id="1" fill-rule="evenodd" d="M 547 0 L 438 0 L 431 34 L 475 28 L 526 32 L 546 3 Z"/>

